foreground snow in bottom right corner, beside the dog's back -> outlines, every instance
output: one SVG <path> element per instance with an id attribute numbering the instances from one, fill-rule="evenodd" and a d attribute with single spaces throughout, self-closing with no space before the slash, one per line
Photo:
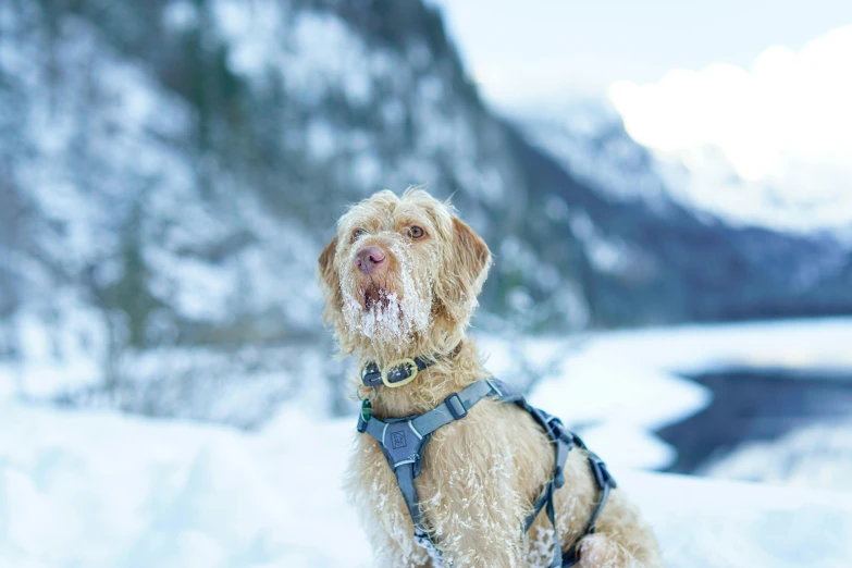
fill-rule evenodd
<path id="1" fill-rule="evenodd" d="M 852 493 L 652 473 L 618 482 L 653 523 L 670 568 L 852 563 Z"/>

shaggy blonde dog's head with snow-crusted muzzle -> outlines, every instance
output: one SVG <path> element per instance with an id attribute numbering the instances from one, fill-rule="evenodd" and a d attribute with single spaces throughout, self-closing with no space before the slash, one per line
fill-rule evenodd
<path id="1" fill-rule="evenodd" d="M 422 189 L 353 206 L 319 259 L 325 320 L 343 354 L 380 359 L 452 350 L 491 266 L 485 243 Z"/>

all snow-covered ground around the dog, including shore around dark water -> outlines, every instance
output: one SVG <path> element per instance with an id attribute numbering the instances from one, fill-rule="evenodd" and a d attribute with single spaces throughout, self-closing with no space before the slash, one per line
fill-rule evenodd
<path id="1" fill-rule="evenodd" d="M 674 449 L 651 432 L 709 400 L 675 371 L 850 368 L 849 345 L 852 320 L 838 319 L 531 339 L 520 348 L 557 360 L 532 400 L 570 423 L 596 424 L 584 430 L 586 442 L 654 523 L 669 566 L 839 568 L 852 565 L 852 492 L 635 468 L 669 460 Z M 481 347 L 511 380 L 511 349 L 485 337 Z M 324 419 L 298 404 L 247 433 L 0 397 L 0 566 L 369 566 L 339 489 L 354 435 L 353 419 Z"/>

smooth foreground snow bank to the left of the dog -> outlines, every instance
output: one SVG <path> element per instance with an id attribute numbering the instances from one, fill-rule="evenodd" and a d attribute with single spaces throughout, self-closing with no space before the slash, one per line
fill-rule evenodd
<path id="1" fill-rule="evenodd" d="M 349 430 L 298 411 L 251 435 L 2 406 L 0 566 L 362 566 L 339 489 Z"/>

